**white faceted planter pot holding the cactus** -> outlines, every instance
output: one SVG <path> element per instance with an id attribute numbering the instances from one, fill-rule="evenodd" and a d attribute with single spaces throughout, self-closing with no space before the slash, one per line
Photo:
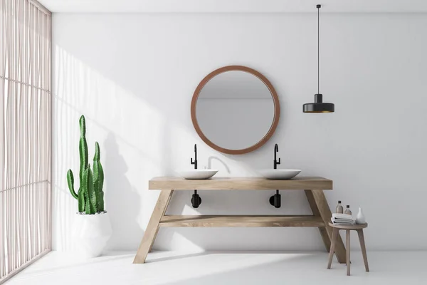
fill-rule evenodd
<path id="1" fill-rule="evenodd" d="M 110 216 L 107 212 L 75 215 L 72 238 L 75 252 L 79 257 L 99 257 L 111 234 Z"/>

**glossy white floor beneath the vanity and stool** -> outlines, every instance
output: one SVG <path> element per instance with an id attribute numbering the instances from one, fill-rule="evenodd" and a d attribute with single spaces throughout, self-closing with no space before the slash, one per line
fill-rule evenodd
<path id="1" fill-rule="evenodd" d="M 327 253 L 153 252 L 147 264 L 134 254 L 112 252 L 91 260 L 51 252 L 6 285 L 110 284 L 427 284 L 427 252 L 352 252 L 352 276 L 336 259 L 327 270 Z"/>

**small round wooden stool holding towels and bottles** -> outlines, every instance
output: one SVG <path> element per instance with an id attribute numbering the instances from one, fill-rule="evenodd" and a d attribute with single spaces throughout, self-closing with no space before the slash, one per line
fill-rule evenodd
<path id="1" fill-rule="evenodd" d="M 332 227 L 332 243 L 331 243 L 331 249 L 330 249 L 330 255 L 329 255 L 329 262 L 327 263 L 327 269 L 331 269 L 332 264 L 332 258 L 334 257 L 334 248 L 335 248 L 335 241 L 337 240 L 337 237 L 339 237 L 339 230 L 345 229 L 345 239 L 346 239 L 346 249 L 347 249 L 347 275 L 350 275 L 350 231 L 354 230 L 357 231 L 357 234 L 359 235 L 359 242 L 360 242 L 360 248 L 362 249 L 362 255 L 363 255 L 363 261 L 365 264 L 365 269 L 367 272 L 369 272 L 369 266 L 368 266 L 368 257 L 367 257 L 367 248 L 364 244 L 364 235 L 363 235 L 363 229 L 365 227 L 368 227 L 368 224 L 354 224 L 354 225 L 347 225 L 347 224 L 332 224 L 329 223 L 330 227 Z"/>

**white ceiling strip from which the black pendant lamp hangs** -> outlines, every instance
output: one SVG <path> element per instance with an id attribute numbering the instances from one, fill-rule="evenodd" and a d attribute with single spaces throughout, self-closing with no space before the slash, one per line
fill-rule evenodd
<path id="1" fill-rule="evenodd" d="M 59 13 L 426 13 L 427 0 L 38 0 Z"/>

